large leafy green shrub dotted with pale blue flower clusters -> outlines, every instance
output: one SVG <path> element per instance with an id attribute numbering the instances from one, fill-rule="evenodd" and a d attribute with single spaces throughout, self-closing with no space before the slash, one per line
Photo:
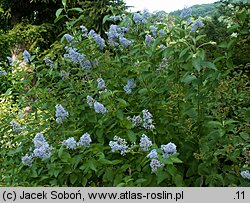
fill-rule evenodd
<path id="1" fill-rule="evenodd" d="M 245 7 L 215 42 L 190 9 L 108 13 L 101 36 L 62 3 L 56 54 L 0 66 L 1 185 L 250 186 Z"/>

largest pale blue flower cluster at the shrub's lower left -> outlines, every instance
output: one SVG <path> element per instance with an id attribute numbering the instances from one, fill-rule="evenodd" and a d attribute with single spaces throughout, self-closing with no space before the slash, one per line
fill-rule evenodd
<path id="1" fill-rule="evenodd" d="M 33 150 L 33 157 L 49 158 L 52 147 L 49 146 L 42 133 L 37 133 L 33 139 L 35 149 Z"/>

